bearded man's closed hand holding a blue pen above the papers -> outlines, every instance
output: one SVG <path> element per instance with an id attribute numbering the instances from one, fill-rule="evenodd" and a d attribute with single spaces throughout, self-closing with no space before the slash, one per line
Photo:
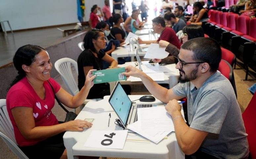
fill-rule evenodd
<path id="1" fill-rule="evenodd" d="M 165 110 L 167 111 L 168 114 L 171 115 L 172 118 L 181 115 L 181 106 L 175 99 L 168 102 L 168 104 L 165 106 Z"/>

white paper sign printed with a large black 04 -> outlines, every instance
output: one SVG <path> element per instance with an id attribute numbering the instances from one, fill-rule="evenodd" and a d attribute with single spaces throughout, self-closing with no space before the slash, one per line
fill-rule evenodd
<path id="1" fill-rule="evenodd" d="M 84 146 L 92 148 L 115 148 L 123 149 L 126 141 L 128 130 L 113 131 L 91 131 Z"/>

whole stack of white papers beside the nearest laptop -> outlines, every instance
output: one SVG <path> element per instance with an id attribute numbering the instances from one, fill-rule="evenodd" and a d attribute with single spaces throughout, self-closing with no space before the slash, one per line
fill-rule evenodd
<path id="1" fill-rule="evenodd" d="M 159 143 L 166 135 L 174 131 L 171 116 L 164 106 L 151 108 L 138 108 L 138 121 L 128 125 L 128 129 L 141 136 Z"/>

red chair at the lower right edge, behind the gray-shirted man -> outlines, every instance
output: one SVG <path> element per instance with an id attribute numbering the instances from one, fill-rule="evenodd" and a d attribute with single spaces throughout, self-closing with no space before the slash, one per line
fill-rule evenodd
<path id="1" fill-rule="evenodd" d="M 250 151 L 250 156 L 252 159 L 256 158 L 256 93 L 254 93 L 250 103 L 248 104 L 247 108 L 242 114 L 243 118 L 243 123 L 244 127 L 246 130 L 246 133 L 248 134 L 247 140 L 249 144 L 249 151 Z"/>

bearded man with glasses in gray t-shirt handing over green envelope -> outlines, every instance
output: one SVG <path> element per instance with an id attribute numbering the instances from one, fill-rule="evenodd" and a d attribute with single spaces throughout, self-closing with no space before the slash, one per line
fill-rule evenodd
<path id="1" fill-rule="evenodd" d="M 140 70 L 126 67 L 125 76 L 142 79 L 143 84 L 164 103 L 173 119 L 175 135 L 186 158 L 247 158 L 247 134 L 234 89 L 217 71 L 221 60 L 219 44 L 198 37 L 181 46 L 176 68 L 179 82 L 171 89 L 161 87 Z M 177 100 L 187 97 L 188 126 Z"/>

